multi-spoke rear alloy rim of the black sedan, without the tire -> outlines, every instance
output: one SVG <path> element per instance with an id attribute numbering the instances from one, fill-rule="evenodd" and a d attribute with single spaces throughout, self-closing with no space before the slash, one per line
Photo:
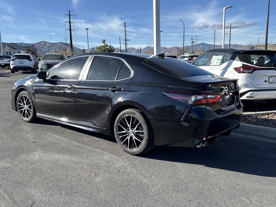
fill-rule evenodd
<path id="1" fill-rule="evenodd" d="M 121 144 L 128 150 L 138 150 L 144 143 L 144 128 L 133 115 L 124 115 L 119 120 L 117 134 Z"/>

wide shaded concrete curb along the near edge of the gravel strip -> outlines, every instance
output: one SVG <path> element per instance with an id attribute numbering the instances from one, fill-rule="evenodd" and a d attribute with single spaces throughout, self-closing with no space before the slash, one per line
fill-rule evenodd
<path id="1" fill-rule="evenodd" d="M 276 143 L 276 129 L 266 126 L 241 123 L 239 129 L 235 129 L 231 134 Z"/>

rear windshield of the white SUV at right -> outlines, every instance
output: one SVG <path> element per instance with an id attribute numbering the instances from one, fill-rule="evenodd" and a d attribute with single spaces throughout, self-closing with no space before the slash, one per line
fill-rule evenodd
<path id="1" fill-rule="evenodd" d="M 258 67 L 272 67 L 276 64 L 276 52 L 246 52 L 239 55 L 240 61 Z"/>

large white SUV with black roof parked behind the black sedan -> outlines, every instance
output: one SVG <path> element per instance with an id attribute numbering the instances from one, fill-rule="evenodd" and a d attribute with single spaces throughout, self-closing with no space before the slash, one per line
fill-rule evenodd
<path id="1" fill-rule="evenodd" d="M 241 100 L 276 105 L 276 51 L 212 49 L 193 64 L 215 75 L 239 79 Z"/>

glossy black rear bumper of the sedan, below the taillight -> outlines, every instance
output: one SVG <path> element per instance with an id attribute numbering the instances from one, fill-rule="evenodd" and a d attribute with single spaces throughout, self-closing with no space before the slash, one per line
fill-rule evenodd
<path id="1" fill-rule="evenodd" d="M 182 121 L 149 118 L 154 134 L 154 144 L 195 147 L 201 142 L 211 143 L 238 128 L 242 112 L 240 104 L 226 115 L 218 115 L 208 107 L 195 106 L 189 110 Z"/>

